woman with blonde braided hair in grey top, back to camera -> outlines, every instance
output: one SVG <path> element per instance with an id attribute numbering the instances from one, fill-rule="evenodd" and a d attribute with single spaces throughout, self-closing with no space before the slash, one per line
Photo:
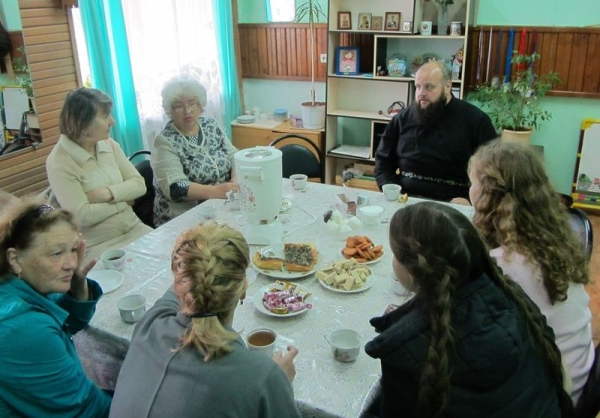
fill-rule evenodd
<path id="1" fill-rule="evenodd" d="M 288 353 L 249 351 L 232 329 L 246 297 L 249 248 L 235 229 L 196 226 L 177 239 L 174 285 L 136 325 L 111 417 L 293 417 Z"/>

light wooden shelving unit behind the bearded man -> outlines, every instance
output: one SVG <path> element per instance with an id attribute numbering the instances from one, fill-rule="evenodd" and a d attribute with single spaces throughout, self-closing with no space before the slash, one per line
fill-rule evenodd
<path id="1" fill-rule="evenodd" d="M 345 167 L 360 161 L 374 163 L 375 150 L 383 130 L 390 121 L 388 107 L 397 101 L 409 106 L 414 99 L 414 77 L 411 64 L 415 57 L 435 54 L 440 59 L 450 60 L 460 48 L 463 49 L 463 63 L 467 62 L 467 39 L 469 24 L 472 22 L 470 0 L 455 0 L 450 6 L 450 20 L 461 21 L 463 33 L 460 36 L 421 36 L 418 29 L 422 20 L 437 23 L 431 13 L 432 2 L 423 0 L 330 0 L 328 20 L 328 64 L 327 64 L 327 117 L 325 125 L 326 182 L 334 183 Z M 338 13 L 350 12 L 352 28 L 338 29 Z M 359 30 L 359 13 L 382 16 L 385 27 L 386 12 L 400 12 L 401 22 L 411 21 L 411 32 Z M 425 15 L 424 15 L 425 13 Z M 435 13 L 435 12 L 434 12 Z M 436 33 L 434 27 L 433 33 Z M 337 48 L 357 47 L 360 54 L 358 75 L 336 74 Z M 378 75 L 378 67 L 386 69 L 392 56 L 407 60 L 407 74 L 401 77 Z M 462 97 L 466 83 L 465 65 L 460 78 L 453 81 L 453 93 Z M 363 155 L 331 153 L 342 145 L 365 147 Z M 368 150 L 368 152 L 367 152 Z"/>

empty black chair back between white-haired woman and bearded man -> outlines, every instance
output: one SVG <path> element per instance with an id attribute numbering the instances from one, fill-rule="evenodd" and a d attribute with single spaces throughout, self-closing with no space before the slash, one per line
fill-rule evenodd
<path id="1" fill-rule="evenodd" d="M 297 143 L 280 144 L 289 139 L 304 141 L 307 146 Z M 325 183 L 325 157 L 317 144 L 310 138 L 299 134 L 287 134 L 277 138 L 270 145 L 274 147 L 277 144 L 280 144 L 277 148 L 283 154 L 283 177 L 290 178 L 292 174 L 306 174 L 309 178 L 318 177 L 321 183 Z M 319 156 L 318 158 L 315 153 Z"/>

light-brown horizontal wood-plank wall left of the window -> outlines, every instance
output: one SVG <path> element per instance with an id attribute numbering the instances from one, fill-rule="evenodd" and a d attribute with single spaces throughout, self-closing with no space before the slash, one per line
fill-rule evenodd
<path id="1" fill-rule="evenodd" d="M 46 158 L 59 137 L 58 115 L 78 87 L 68 11 L 59 0 L 19 0 L 23 41 L 31 73 L 42 143 L 0 157 L 0 188 L 23 195 L 48 186 Z"/>

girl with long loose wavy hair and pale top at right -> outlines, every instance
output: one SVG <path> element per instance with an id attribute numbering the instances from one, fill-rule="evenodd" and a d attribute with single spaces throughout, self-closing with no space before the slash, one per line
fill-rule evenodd
<path id="1" fill-rule="evenodd" d="M 494 141 L 469 163 L 473 223 L 507 276 L 552 327 L 577 402 L 594 361 L 588 260 L 536 151 Z"/>

